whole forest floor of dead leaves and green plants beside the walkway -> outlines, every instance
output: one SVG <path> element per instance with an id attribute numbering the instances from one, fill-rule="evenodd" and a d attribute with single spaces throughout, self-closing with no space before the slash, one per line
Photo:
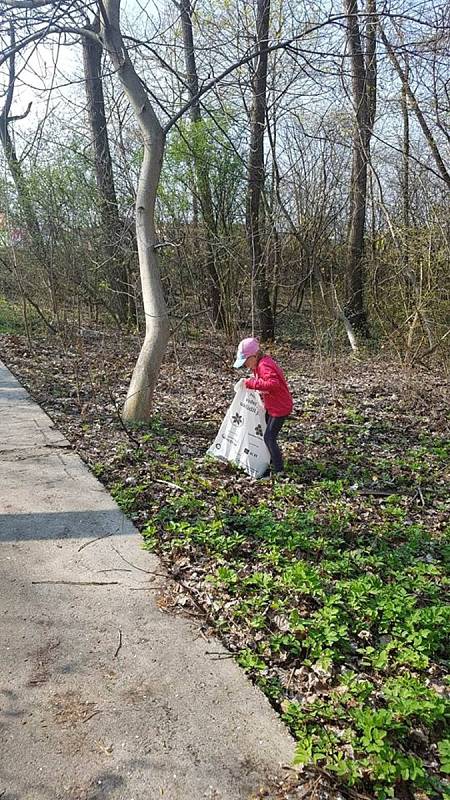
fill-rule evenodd
<path id="1" fill-rule="evenodd" d="M 296 737 L 299 787 L 261 796 L 450 796 L 448 374 L 277 347 L 288 477 L 258 483 L 205 457 L 236 373 L 204 341 L 171 347 L 128 430 L 136 338 L 6 335 L 0 357 L 159 554 L 166 610 L 219 635 Z"/>

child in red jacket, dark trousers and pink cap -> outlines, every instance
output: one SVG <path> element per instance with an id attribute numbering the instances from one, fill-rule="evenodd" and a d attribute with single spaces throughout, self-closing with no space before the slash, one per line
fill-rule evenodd
<path id="1" fill-rule="evenodd" d="M 256 389 L 262 394 L 267 422 L 264 441 L 270 453 L 273 472 L 283 472 L 283 456 L 277 436 L 293 407 L 286 378 L 276 361 L 261 352 L 258 339 L 243 339 L 240 342 L 234 367 L 253 370 L 255 377 L 248 378 L 244 385 L 246 389 Z"/>

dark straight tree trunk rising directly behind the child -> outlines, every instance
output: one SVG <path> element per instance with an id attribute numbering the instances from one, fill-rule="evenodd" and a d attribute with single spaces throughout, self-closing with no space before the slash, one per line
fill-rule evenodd
<path id="1" fill-rule="evenodd" d="M 259 50 L 268 46 L 269 20 L 270 0 L 258 0 L 256 41 Z M 266 263 L 263 254 L 263 225 L 261 220 L 261 198 L 264 186 L 264 130 L 267 107 L 267 60 L 268 54 L 266 50 L 266 52 L 262 52 L 258 56 L 253 79 L 246 214 L 253 298 L 258 316 L 259 332 L 263 340 L 271 340 L 275 335 L 273 311 L 267 286 Z"/>

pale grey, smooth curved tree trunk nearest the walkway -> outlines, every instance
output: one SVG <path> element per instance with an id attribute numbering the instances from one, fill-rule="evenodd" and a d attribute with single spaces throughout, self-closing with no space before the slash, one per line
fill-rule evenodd
<path id="1" fill-rule="evenodd" d="M 155 229 L 155 203 L 161 174 L 165 134 L 124 46 L 120 32 L 120 0 L 104 2 L 102 32 L 106 50 L 136 114 L 144 158 L 136 194 L 136 234 L 145 339 L 128 389 L 123 418 L 145 421 L 151 413 L 153 393 L 169 340 L 169 320 L 161 283 Z"/>

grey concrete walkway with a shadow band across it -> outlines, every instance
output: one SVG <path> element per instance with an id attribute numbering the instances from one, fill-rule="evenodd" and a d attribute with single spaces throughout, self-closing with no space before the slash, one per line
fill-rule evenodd
<path id="1" fill-rule="evenodd" d="M 292 739 L 1 362 L 0 459 L 1 799 L 251 797 Z"/>

